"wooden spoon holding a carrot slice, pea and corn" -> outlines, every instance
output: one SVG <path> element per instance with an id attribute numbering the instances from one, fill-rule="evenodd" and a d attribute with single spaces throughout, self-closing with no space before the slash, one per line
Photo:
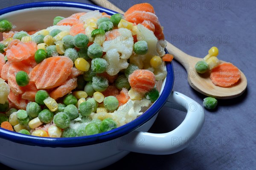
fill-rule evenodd
<path id="1" fill-rule="evenodd" d="M 91 0 L 93 3 L 95 3 L 98 6 L 102 6 L 103 4 L 111 4 L 108 0 Z M 109 9 L 119 12 L 121 14 L 124 13 L 121 9 L 117 8 L 113 4 L 109 6 Z M 204 74 L 198 74 L 195 71 L 195 64 L 202 60 L 202 58 L 198 57 L 192 57 L 174 45 L 172 45 L 170 42 L 167 42 L 166 49 L 169 51 L 170 54 L 173 54 L 174 59 L 176 59 L 180 64 L 183 65 L 183 67 L 186 69 L 188 74 L 188 82 L 189 85 L 194 88 L 196 91 L 198 91 L 201 94 L 204 94 L 206 96 L 212 96 L 217 99 L 232 99 L 237 96 L 240 96 L 243 94 L 247 87 L 247 79 L 243 72 L 241 72 L 241 78 L 239 82 L 237 82 L 235 85 L 232 85 L 227 88 L 223 88 L 217 85 L 214 85 L 210 79 L 210 72 Z M 221 61 L 220 62 L 225 62 Z"/>

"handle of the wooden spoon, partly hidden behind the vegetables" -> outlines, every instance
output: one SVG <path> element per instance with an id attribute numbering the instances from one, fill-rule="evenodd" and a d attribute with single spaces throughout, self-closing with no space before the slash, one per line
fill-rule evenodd
<path id="1" fill-rule="evenodd" d="M 108 9 L 111 9 L 113 11 L 119 12 L 120 14 L 124 14 L 124 11 L 122 11 L 120 8 L 114 6 L 111 2 L 108 0 L 91 0 L 93 3 L 95 3 L 98 6 L 103 6 L 104 4 L 110 4 L 108 5 Z M 167 41 L 167 46 L 166 49 L 170 54 L 173 54 L 174 58 L 180 62 L 180 64 L 183 65 L 184 68 L 188 69 L 189 68 L 189 55 L 181 51 L 179 48 L 175 47 L 172 45 L 170 42 Z"/>

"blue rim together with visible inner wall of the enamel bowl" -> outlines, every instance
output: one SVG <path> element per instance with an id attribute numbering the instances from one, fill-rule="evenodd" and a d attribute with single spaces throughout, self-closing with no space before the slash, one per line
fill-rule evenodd
<path id="1" fill-rule="evenodd" d="M 56 2 L 56 3 L 30 3 L 11 8 L 5 8 L 0 10 L 1 19 L 7 19 L 14 23 L 16 26 L 13 31 L 32 31 L 44 29 L 52 26 L 53 18 L 56 16 L 68 17 L 71 14 L 78 12 L 88 12 L 92 10 L 100 10 L 100 12 L 106 12 L 108 14 L 115 14 L 114 11 L 108 9 L 92 6 L 82 3 L 68 3 L 68 2 Z M 2 35 L 1 35 L 2 37 Z M 38 138 L 34 136 L 26 136 L 20 133 L 10 132 L 0 128 L 0 137 L 12 140 L 14 142 L 39 146 L 50 147 L 70 147 L 96 144 L 105 142 L 107 140 L 115 139 L 116 137 L 123 136 L 140 125 L 143 125 L 149 119 L 151 119 L 167 101 L 169 94 L 172 91 L 174 82 L 172 63 L 166 63 L 166 70 L 168 72 L 166 79 L 159 84 L 163 84 L 160 88 L 160 97 L 156 102 L 147 110 L 143 115 L 139 116 L 134 121 L 118 127 L 114 130 L 99 133 L 92 136 L 82 136 L 76 138 Z M 79 140 L 77 140 L 79 139 Z"/>

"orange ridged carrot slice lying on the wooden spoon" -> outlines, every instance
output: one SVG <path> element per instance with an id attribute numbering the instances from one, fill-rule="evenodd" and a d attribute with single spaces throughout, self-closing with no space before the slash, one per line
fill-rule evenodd
<path id="1" fill-rule="evenodd" d="M 212 69 L 212 83 L 221 87 L 229 87 L 240 79 L 239 69 L 230 62 L 224 62 Z"/>

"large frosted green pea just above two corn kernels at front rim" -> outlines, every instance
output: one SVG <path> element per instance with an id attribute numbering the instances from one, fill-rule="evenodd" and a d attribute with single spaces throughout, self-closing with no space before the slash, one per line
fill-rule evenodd
<path id="1" fill-rule="evenodd" d="M 53 123 L 61 129 L 65 129 L 70 125 L 70 117 L 67 115 L 67 113 L 59 112 L 54 115 Z"/>

